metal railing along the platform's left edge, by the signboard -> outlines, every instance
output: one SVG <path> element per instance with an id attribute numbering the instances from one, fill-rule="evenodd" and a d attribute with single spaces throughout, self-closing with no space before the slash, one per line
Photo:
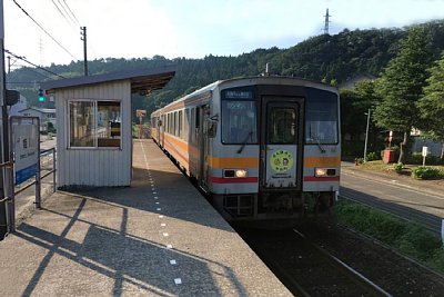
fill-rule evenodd
<path id="1" fill-rule="evenodd" d="M 42 168 L 41 168 L 41 157 L 49 156 L 52 154 L 52 169 L 44 168 L 44 170 L 48 170 L 44 175 L 41 175 Z M 26 184 L 23 187 L 21 187 L 19 190 L 16 191 L 16 185 L 14 185 L 14 168 L 13 168 L 13 162 L 3 162 L 0 164 L 0 169 L 3 170 L 3 176 L 4 181 L 8 181 L 6 184 L 9 184 L 9 189 L 8 189 L 8 195 L 6 194 L 6 197 L 0 200 L 0 204 L 6 204 L 6 217 L 7 217 L 7 234 L 16 231 L 16 196 L 19 195 L 20 192 L 27 190 L 28 188 L 32 187 L 36 185 L 36 208 L 40 209 L 41 208 L 41 180 L 49 175 L 53 174 L 52 176 L 52 191 L 56 191 L 57 185 L 56 185 L 56 175 L 54 172 L 57 171 L 57 160 L 56 160 L 56 148 L 51 149 L 46 149 L 41 150 L 39 154 L 39 159 L 38 159 L 38 170 L 36 174 L 36 180 Z"/>

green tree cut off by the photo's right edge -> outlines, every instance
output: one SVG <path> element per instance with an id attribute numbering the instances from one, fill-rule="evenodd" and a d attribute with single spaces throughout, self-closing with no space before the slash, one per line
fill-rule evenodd
<path id="1" fill-rule="evenodd" d="M 444 141 L 444 53 L 430 72 L 428 85 L 424 87 L 424 97 L 417 102 L 422 119 L 418 127 L 428 137 Z"/>

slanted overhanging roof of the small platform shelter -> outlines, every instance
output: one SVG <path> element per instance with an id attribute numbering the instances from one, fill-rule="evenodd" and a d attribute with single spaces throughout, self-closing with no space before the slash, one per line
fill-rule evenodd
<path id="1" fill-rule="evenodd" d="M 132 93 L 150 93 L 162 89 L 175 75 L 175 66 L 165 66 L 150 69 L 137 69 L 129 71 L 110 72 L 104 75 L 58 79 L 44 81 L 40 87 L 51 91 L 61 88 L 72 88 L 84 85 L 97 85 L 117 80 L 131 80 Z"/>

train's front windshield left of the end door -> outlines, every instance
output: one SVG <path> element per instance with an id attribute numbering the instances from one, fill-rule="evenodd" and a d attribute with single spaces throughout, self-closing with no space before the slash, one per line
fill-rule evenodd
<path id="1" fill-rule="evenodd" d="M 258 143 L 256 101 L 251 90 L 222 92 L 222 142 Z"/>

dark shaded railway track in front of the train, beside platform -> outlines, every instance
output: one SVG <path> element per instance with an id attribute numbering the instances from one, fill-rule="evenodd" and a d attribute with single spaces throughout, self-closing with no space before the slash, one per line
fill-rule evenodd
<path id="1" fill-rule="evenodd" d="M 238 232 L 295 296 L 391 296 L 297 230 Z"/>

